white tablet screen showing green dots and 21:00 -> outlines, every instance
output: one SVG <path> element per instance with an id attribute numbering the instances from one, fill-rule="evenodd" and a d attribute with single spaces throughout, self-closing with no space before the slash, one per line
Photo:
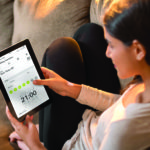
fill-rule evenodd
<path id="1" fill-rule="evenodd" d="M 25 45 L 0 57 L 0 77 L 18 118 L 49 99 Z"/>

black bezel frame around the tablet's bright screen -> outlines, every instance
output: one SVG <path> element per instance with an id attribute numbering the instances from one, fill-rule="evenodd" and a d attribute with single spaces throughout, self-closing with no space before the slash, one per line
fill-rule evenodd
<path id="1" fill-rule="evenodd" d="M 32 48 L 32 46 L 31 46 L 31 44 L 30 44 L 30 41 L 29 41 L 28 39 L 25 39 L 24 41 L 21 41 L 21 42 L 15 44 L 15 45 L 12 45 L 12 46 L 10 46 L 10 47 L 8 47 L 8 48 L 6 48 L 6 49 L 0 51 L 0 57 L 1 57 L 1 56 L 4 56 L 4 55 L 7 54 L 7 53 L 10 53 L 10 52 L 12 52 L 12 51 L 18 49 L 18 48 L 20 48 L 20 47 L 22 47 L 22 46 L 24 46 L 24 45 L 25 45 L 25 46 L 27 47 L 27 49 L 28 49 L 28 52 L 29 52 L 29 54 L 30 54 L 30 56 L 31 56 L 31 58 L 32 58 L 32 61 L 33 61 L 33 63 L 34 63 L 34 66 L 35 66 L 35 68 L 36 68 L 36 70 L 37 70 L 37 72 L 38 72 L 40 78 L 41 78 L 41 79 L 44 79 L 44 76 L 43 76 L 43 73 L 42 73 L 42 71 L 41 71 L 40 65 L 39 65 L 39 63 L 38 63 L 38 60 L 37 60 L 37 58 L 36 58 L 36 56 L 35 56 L 35 53 L 34 53 L 34 51 L 33 51 L 33 48 Z M 11 103 L 11 101 L 10 101 L 10 98 L 9 98 L 9 96 L 8 96 L 8 94 L 7 94 L 7 91 L 6 91 L 5 87 L 4 87 L 4 84 L 3 84 L 3 81 L 2 81 L 1 78 L 0 78 L 0 85 L 1 85 L 2 94 L 3 94 L 3 96 L 4 96 L 4 99 L 5 99 L 6 104 L 8 105 L 9 110 L 11 111 L 11 113 L 13 114 L 13 116 L 14 116 L 17 120 L 19 120 L 20 122 L 25 119 L 26 115 L 33 115 L 34 113 L 38 112 L 40 109 L 42 109 L 43 107 L 47 106 L 48 104 L 50 104 L 50 103 L 52 102 L 52 96 L 51 96 L 51 94 L 50 94 L 50 91 L 51 91 L 51 90 L 50 90 L 47 86 L 44 86 L 44 88 L 45 88 L 45 90 L 46 90 L 46 93 L 47 93 L 49 99 L 48 99 L 47 101 L 45 101 L 44 103 L 40 104 L 39 106 L 35 107 L 35 108 L 32 109 L 31 111 L 27 112 L 27 113 L 24 114 L 22 117 L 18 118 L 17 115 L 16 115 L 16 112 L 15 112 L 13 106 L 12 106 L 12 103 Z"/>

